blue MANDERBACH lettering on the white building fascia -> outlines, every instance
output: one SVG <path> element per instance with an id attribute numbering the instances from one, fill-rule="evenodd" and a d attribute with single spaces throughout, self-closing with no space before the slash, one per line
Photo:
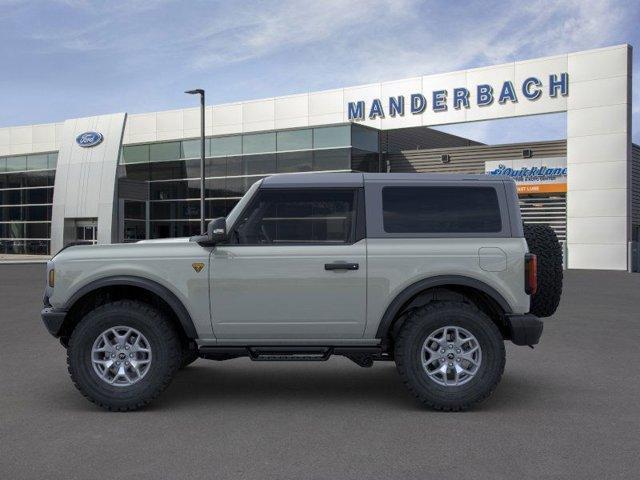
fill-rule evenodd
<path id="1" fill-rule="evenodd" d="M 569 74 L 551 74 L 546 83 L 538 77 L 529 77 L 518 86 L 515 86 L 511 81 L 506 81 L 499 88 L 494 88 L 489 84 L 480 84 L 471 90 L 466 87 L 454 88 L 452 91 L 434 90 L 429 98 L 422 93 L 412 93 L 408 98 L 405 98 L 404 95 L 386 99 L 374 98 L 370 104 L 359 100 L 349 102 L 347 111 L 349 120 L 365 120 L 365 116 L 370 120 L 375 120 L 376 118 L 385 118 L 387 115 L 402 117 L 405 112 L 420 115 L 427 108 L 431 108 L 434 112 L 445 112 L 449 106 L 460 110 L 471 108 L 472 105 L 486 107 L 496 101 L 499 104 L 517 103 L 520 99 L 533 102 L 545 93 L 551 98 L 558 95 L 562 97 L 569 95 Z"/>

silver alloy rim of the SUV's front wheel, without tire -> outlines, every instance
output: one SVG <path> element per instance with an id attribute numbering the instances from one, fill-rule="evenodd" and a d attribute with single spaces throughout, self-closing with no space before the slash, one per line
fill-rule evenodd
<path id="1" fill-rule="evenodd" d="M 149 371 L 151 345 L 135 328 L 112 327 L 93 342 L 91 361 L 102 381 L 116 387 L 128 387 L 142 380 Z"/>

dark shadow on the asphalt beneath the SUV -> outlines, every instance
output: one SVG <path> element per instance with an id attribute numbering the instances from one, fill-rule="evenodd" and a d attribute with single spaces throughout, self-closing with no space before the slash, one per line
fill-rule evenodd
<path id="1" fill-rule="evenodd" d="M 365 407 L 441 414 L 424 408 L 409 393 L 392 362 L 379 362 L 368 369 L 344 359 L 327 363 L 329 365 L 256 364 L 247 359 L 198 360 L 179 371 L 169 388 L 142 411 L 289 408 L 297 404 L 319 411 L 327 407 L 354 410 Z M 464 414 L 506 413 L 539 409 L 543 405 L 555 408 L 549 400 L 561 391 L 566 392 L 566 386 L 555 385 L 549 377 L 532 379 L 517 373 L 505 374 L 489 399 Z M 76 412 L 97 409 L 67 383 L 59 389 L 50 389 L 48 394 L 49 407 L 64 406 L 65 410 Z M 557 402 L 551 400 L 551 403 Z"/>

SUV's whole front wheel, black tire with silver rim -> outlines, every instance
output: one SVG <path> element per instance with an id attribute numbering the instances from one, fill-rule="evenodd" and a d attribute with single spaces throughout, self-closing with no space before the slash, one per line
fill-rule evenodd
<path id="1" fill-rule="evenodd" d="M 142 302 L 89 312 L 71 334 L 67 366 L 76 387 L 107 410 L 136 410 L 169 385 L 182 348 L 169 320 Z"/>

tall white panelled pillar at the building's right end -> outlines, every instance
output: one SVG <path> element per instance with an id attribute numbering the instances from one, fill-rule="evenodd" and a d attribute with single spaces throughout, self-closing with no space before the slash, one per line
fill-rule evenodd
<path id="1" fill-rule="evenodd" d="M 568 265 L 626 270 L 631 233 L 631 47 L 567 57 Z"/>

